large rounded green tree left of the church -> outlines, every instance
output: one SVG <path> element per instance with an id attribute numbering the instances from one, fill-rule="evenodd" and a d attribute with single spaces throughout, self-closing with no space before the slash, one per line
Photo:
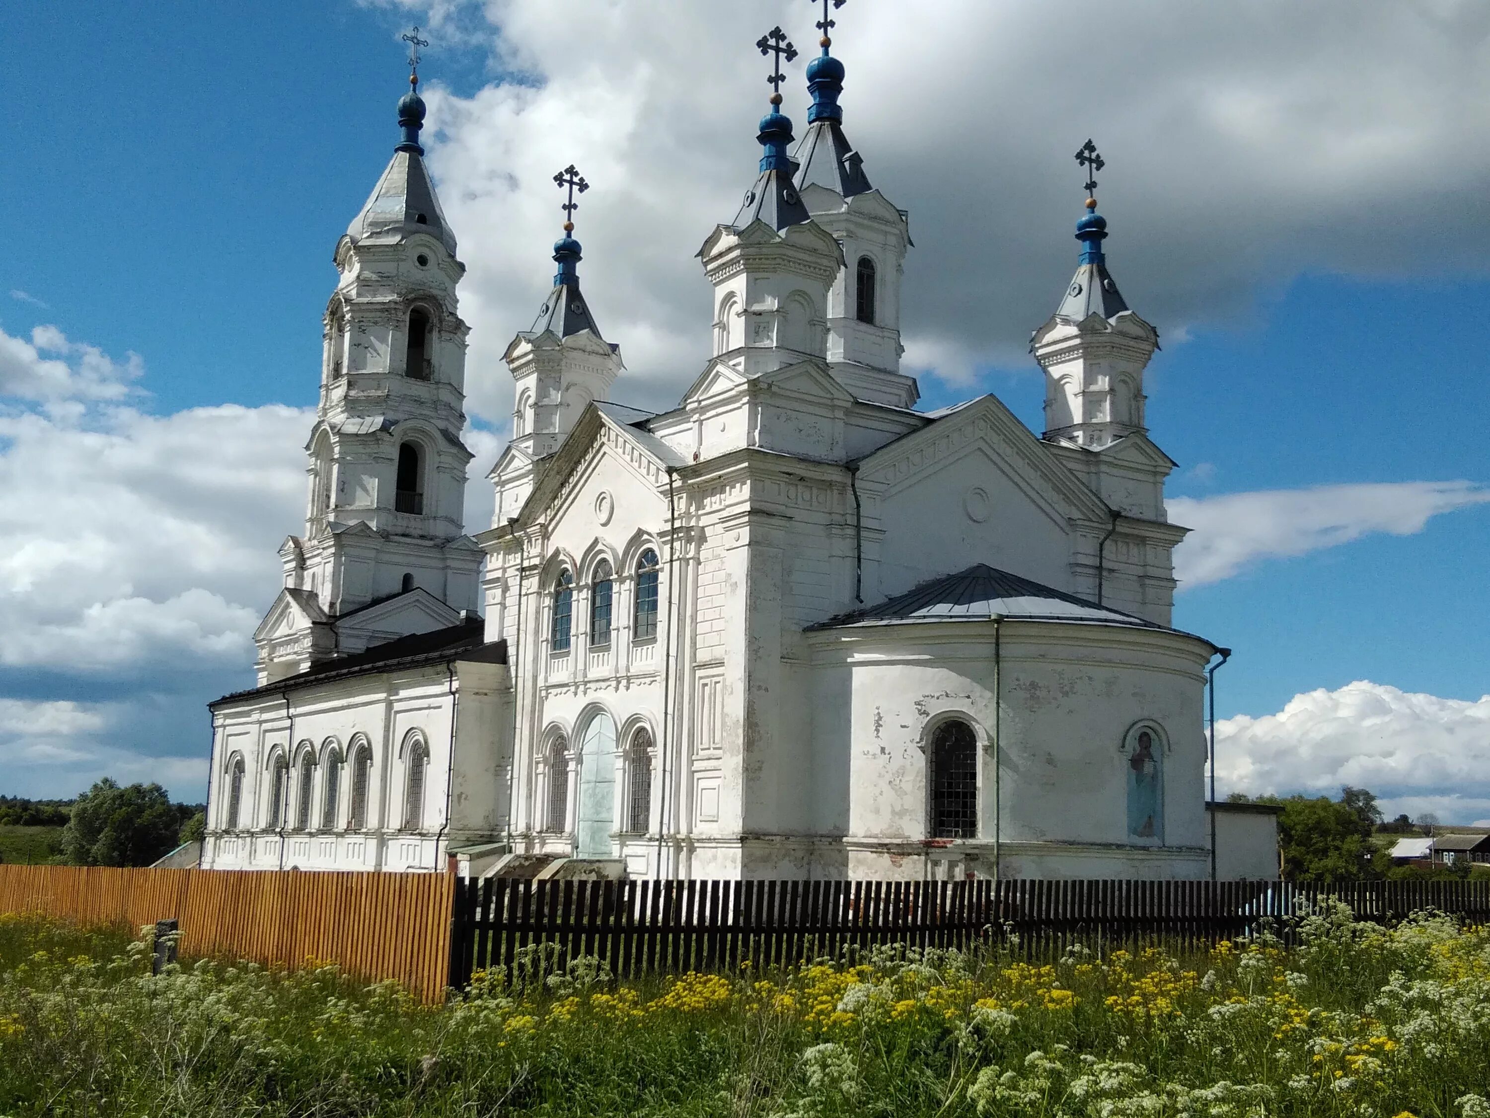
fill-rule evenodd
<path id="1" fill-rule="evenodd" d="M 182 818 L 159 784 L 104 777 L 73 803 L 63 856 L 74 866 L 148 866 L 176 848 Z"/>

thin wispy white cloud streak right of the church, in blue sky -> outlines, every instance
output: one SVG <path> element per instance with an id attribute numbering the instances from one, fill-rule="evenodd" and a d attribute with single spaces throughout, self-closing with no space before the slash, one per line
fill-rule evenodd
<path id="1" fill-rule="evenodd" d="M 1170 519 L 1193 529 L 1174 552 L 1182 586 L 1231 578 L 1264 559 L 1301 556 L 1372 532 L 1414 535 L 1430 517 L 1490 502 L 1471 481 L 1271 489 L 1222 496 L 1171 496 Z"/>

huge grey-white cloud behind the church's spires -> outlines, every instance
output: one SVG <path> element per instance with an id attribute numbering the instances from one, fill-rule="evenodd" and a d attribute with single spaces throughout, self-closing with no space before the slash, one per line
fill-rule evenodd
<path id="1" fill-rule="evenodd" d="M 593 183 L 581 276 L 629 367 L 617 398 L 670 405 L 709 344 L 693 255 L 755 174 L 766 89 L 751 43 L 781 22 L 811 57 L 811 4 L 633 0 L 580 21 L 554 19 L 550 0 L 396 6 L 438 28 L 429 149 L 471 268 L 472 367 L 501 371 L 536 315 L 560 221 L 550 179 L 572 161 Z M 1110 264 L 1170 340 L 1244 318 L 1301 271 L 1484 267 L 1460 233 L 1490 171 L 1490 149 L 1463 143 L 1490 125 L 1483 3 L 1146 0 L 1115 19 L 1103 0 L 858 0 L 836 18 L 845 128 L 910 212 L 903 328 L 918 373 L 964 385 L 1028 365 L 1025 340 L 1076 262 L 1071 154 L 1088 136 L 1107 158 Z M 1101 27 L 1103 49 L 1073 49 L 1079 27 Z M 440 52 L 462 48 L 499 75 L 471 97 L 438 88 Z M 799 134 L 805 61 L 784 106 Z M 472 386 L 490 422 L 510 407 L 505 376 Z"/>

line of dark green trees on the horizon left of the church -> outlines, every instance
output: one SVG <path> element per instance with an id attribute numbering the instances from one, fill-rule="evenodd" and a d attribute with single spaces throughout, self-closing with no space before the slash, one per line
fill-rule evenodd
<path id="1" fill-rule="evenodd" d="M 0 826 L 63 827 L 52 859 L 72 866 L 149 866 L 206 830 L 201 803 L 173 803 L 159 784 L 104 777 L 74 800 L 0 796 Z"/>

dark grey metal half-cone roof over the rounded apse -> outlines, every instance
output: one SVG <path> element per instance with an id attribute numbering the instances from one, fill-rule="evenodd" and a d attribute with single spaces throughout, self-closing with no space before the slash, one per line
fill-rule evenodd
<path id="1" fill-rule="evenodd" d="M 912 625 L 918 622 L 986 622 L 1007 617 L 1027 622 L 1086 622 L 1167 629 L 1122 610 L 1097 605 L 1074 593 L 977 563 L 957 574 L 931 578 L 897 598 L 809 625 L 840 629 L 857 625 Z"/>

